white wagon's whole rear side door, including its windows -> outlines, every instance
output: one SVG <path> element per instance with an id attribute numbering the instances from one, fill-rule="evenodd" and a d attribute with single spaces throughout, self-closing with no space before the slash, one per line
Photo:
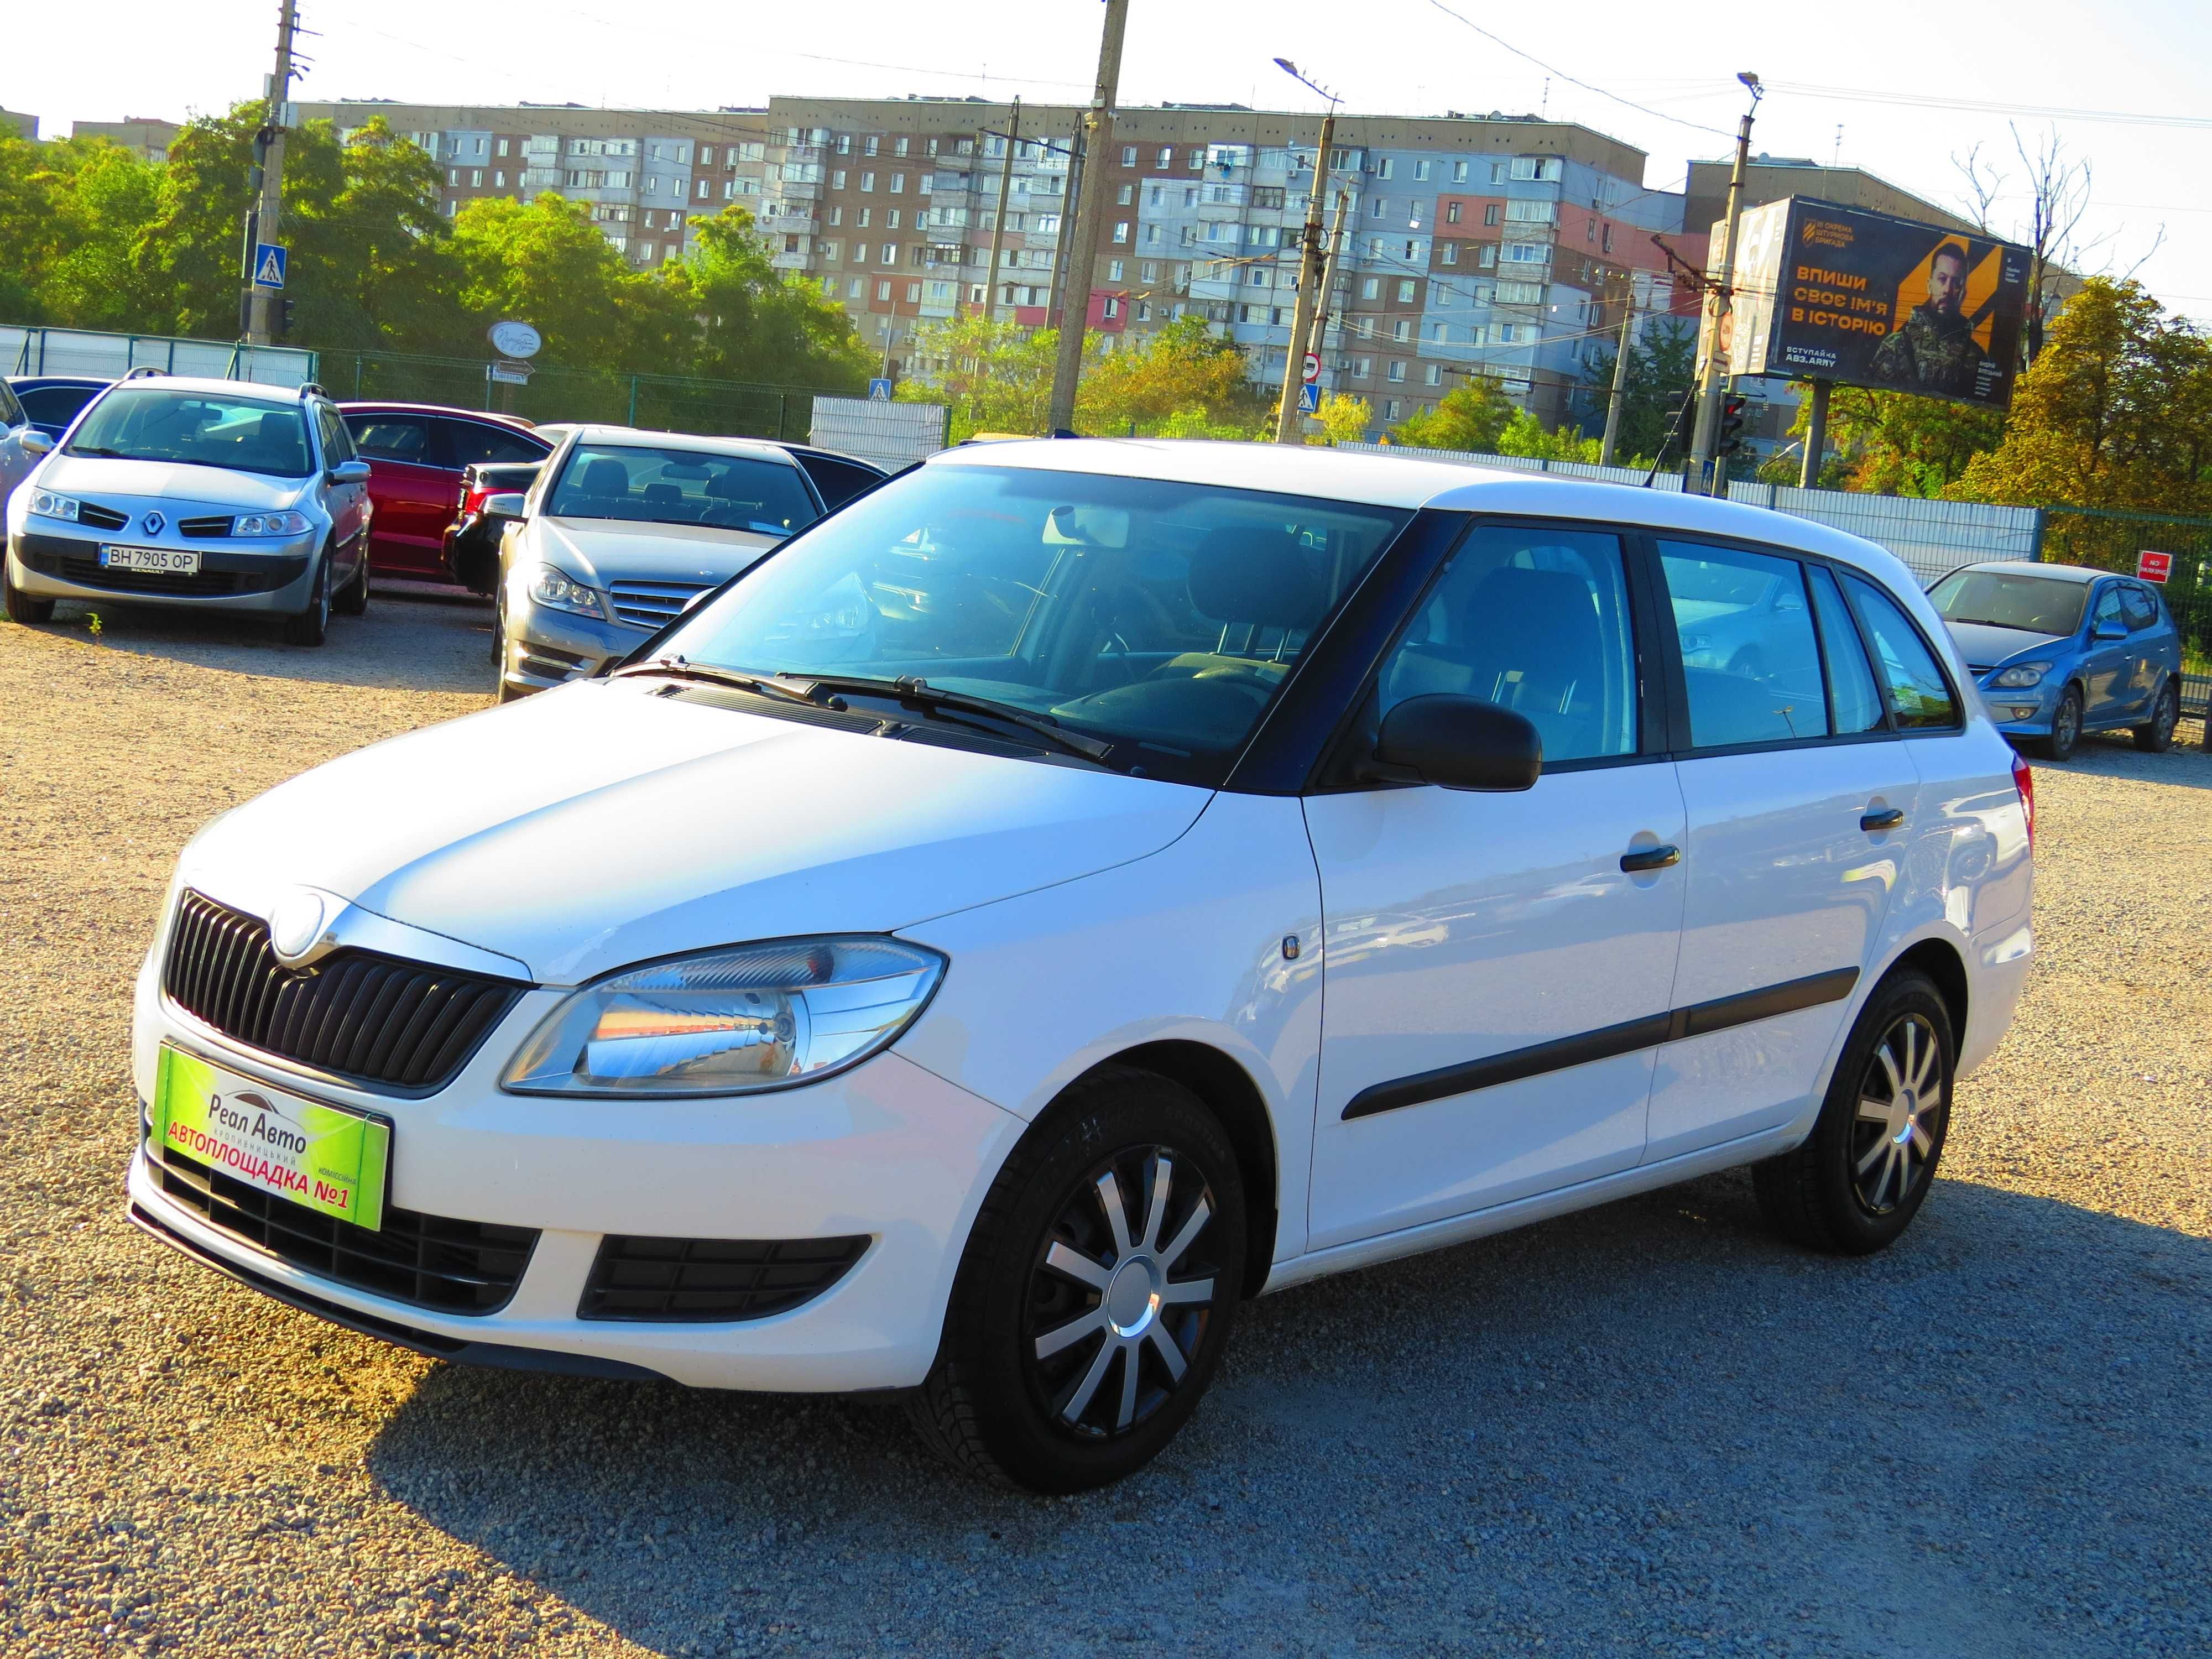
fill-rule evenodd
<path id="1" fill-rule="evenodd" d="M 1920 776 L 1836 571 L 1781 549 L 1657 542 L 1688 841 L 1657 1164 L 1792 1121 L 1871 967 Z"/>

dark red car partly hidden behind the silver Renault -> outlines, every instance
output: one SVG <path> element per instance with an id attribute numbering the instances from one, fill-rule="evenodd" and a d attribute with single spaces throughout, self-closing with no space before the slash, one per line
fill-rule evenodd
<path id="1" fill-rule="evenodd" d="M 341 403 L 354 449 L 369 462 L 369 573 L 451 582 L 445 531 L 460 511 L 460 473 L 480 462 L 553 453 L 529 420 L 429 403 Z"/>

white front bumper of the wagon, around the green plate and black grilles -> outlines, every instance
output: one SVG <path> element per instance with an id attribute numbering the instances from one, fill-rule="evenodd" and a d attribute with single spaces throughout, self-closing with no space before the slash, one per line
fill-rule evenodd
<path id="1" fill-rule="evenodd" d="M 131 1159 L 133 1219 L 281 1301 L 445 1358 L 794 1394 L 920 1383 L 975 1210 L 1022 1121 L 898 1053 L 814 1086 L 739 1099 L 502 1093 L 500 1066 L 560 995 L 524 995 L 453 1084 L 405 1099 L 228 1042 L 161 998 L 150 960 L 137 984 L 142 1099 L 155 1086 L 159 1044 L 173 1042 L 276 1088 L 389 1117 L 394 1206 L 538 1230 L 500 1310 L 438 1312 L 292 1265 L 166 1194 L 144 1146 Z M 872 1243 L 830 1290 L 768 1318 L 580 1318 L 604 1234 L 867 1234 Z"/>

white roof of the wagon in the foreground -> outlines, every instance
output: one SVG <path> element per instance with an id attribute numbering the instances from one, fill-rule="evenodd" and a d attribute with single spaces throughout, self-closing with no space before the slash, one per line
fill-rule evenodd
<path id="1" fill-rule="evenodd" d="M 1206 442 L 1190 438 L 1031 438 L 964 445 L 929 458 L 931 467 L 1033 467 L 1037 471 L 1117 473 L 1279 495 L 1316 495 L 1367 507 L 1436 507 L 1453 513 L 1586 518 L 1686 535 L 1732 535 L 1878 571 L 1918 593 L 1905 564 L 1865 538 L 1765 507 L 1708 495 L 1604 484 L 1559 473 L 1526 473 L 1427 460 L 1418 453 L 1349 453 L 1318 445 Z"/>

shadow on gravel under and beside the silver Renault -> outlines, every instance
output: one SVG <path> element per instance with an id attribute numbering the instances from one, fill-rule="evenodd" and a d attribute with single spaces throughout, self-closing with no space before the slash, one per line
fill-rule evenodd
<path id="1" fill-rule="evenodd" d="M 91 639 L 137 657 L 168 657 L 257 679 L 372 690 L 482 692 L 491 699 L 491 606 L 460 588 L 374 588 L 363 617 L 332 617 L 321 646 L 288 646 L 274 617 L 62 602 L 40 633 Z"/>

